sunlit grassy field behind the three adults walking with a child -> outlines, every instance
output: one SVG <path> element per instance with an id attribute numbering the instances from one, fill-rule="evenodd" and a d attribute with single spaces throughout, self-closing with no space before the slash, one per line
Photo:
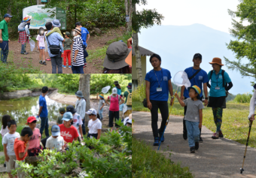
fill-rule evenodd
<path id="1" fill-rule="evenodd" d="M 169 106 L 170 107 L 170 106 Z M 147 111 L 148 108 L 143 107 L 142 102 L 133 101 L 134 111 Z M 175 99 L 175 104 L 172 107 L 172 115 L 183 116 L 183 107 L 178 104 Z M 248 112 L 249 104 L 237 104 L 234 102 L 227 102 L 227 108 L 223 112 L 223 120 L 221 130 L 225 138 L 235 140 L 239 143 L 246 144 L 248 137 Z M 172 119 L 170 119 L 172 124 Z M 213 120 L 212 108 L 205 107 L 203 109 L 203 125 L 211 131 L 216 131 L 215 122 Z M 256 148 L 256 125 L 252 124 L 249 146 Z"/>

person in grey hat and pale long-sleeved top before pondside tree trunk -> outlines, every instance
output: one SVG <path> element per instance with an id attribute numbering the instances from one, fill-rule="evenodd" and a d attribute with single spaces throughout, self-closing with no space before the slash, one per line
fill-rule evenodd
<path id="1" fill-rule="evenodd" d="M 75 109 L 77 110 L 76 113 L 78 113 L 81 116 L 81 119 L 83 121 L 82 131 L 83 131 L 83 134 L 86 134 L 85 125 L 84 125 L 84 116 L 85 116 L 87 101 L 85 101 L 84 99 L 83 92 L 81 91 L 75 92 L 75 95 L 78 98 L 78 100 L 75 103 Z M 83 137 L 83 135 L 81 135 L 81 137 Z"/>

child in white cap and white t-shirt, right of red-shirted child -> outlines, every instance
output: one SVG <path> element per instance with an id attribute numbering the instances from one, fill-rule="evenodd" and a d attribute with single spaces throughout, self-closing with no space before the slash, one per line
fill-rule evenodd
<path id="1" fill-rule="evenodd" d="M 95 137 L 97 140 L 100 138 L 100 134 L 102 131 L 102 122 L 99 120 L 99 114 L 93 108 L 86 112 L 89 115 L 88 128 L 89 132 L 87 134 L 87 138 Z"/>

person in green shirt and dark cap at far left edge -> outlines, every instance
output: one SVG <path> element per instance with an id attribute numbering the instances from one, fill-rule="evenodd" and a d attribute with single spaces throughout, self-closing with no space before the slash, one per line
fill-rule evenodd
<path id="1" fill-rule="evenodd" d="M 0 48 L 1 48 L 1 61 L 3 63 L 7 62 L 8 52 L 9 52 L 9 35 L 8 35 L 8 23 L 11 21 L 11 15 L 5 14 L 4 20 L 0 23 Z"/>

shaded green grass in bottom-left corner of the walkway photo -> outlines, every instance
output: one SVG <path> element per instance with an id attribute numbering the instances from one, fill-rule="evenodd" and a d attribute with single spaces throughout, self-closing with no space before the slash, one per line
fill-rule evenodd
<path id="1" fill-rule="evenodd" d="M 132 171 L 134 178 L 193 177 L 188 167 L 174 164 L 170 158 L 165 158 L 163 154 L 151 149 L 145 141 L 136 140 L 134 137 Z"/>

